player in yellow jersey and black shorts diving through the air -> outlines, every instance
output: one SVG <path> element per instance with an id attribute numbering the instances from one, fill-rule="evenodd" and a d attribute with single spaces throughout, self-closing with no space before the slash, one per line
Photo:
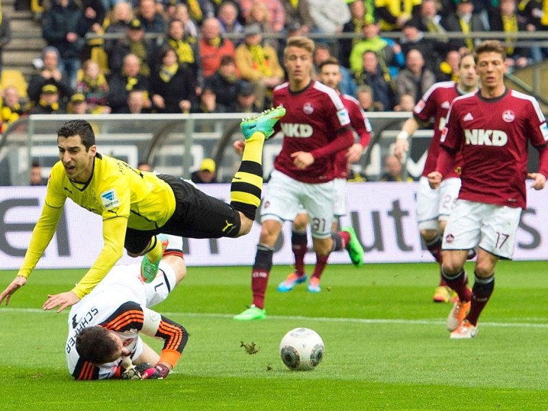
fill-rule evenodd
<path id="1" fill-rule="evenodd" d="M 105 277 L 122 257 L 144 256 L 142 277 L 154 278 L 166 247 L 157 234 L 190 238 L 238 237 L 253 225 L 262 190 L 262 147 L 284 116 L 284 108 L 242 121 L 246 138 L 240 169 L 232 179 L 230 204 L 210 197 L 171 175 L 133 169 L 121 160 L 101 155 L 87 121 L 68 121 L 58 130 L 59 158 L 51 169 L 45 204 L 34 227 L 23 266 L 0 294 L 6 305 L 40 260 L 53 238 L 66 198 L 103 217 L 101 253 L 76 286 L 49 295 L 44 310 L 58 312 L 77 303 Z"/>

